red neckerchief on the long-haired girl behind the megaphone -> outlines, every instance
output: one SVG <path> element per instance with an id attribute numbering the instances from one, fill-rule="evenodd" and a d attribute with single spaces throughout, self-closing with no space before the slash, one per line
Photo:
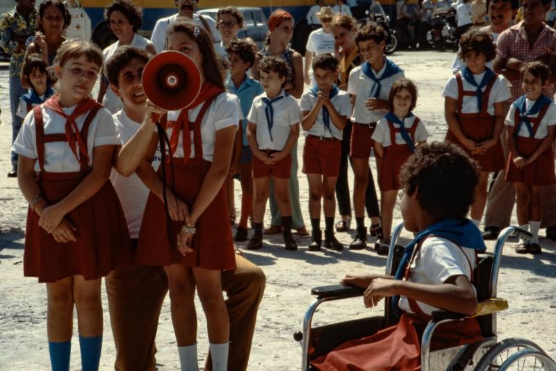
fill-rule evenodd
<path id="1" fill-rule="evenodd" d="M 172 135 L 170 136 L 170 156 L 173 156 L 176 152 L 179 143 L 179 132 L 183 131 L 182 138 L 183 138 L 183 165 L 189 160 L 191 156 L 191 134 L 189 128 L 189 110 L 193 109 L 199 104 L 202 104 L 204 101 L 211 99 L 221 92 L 224 92 L 224 89 L 218 88 L 218 86 L 214 85 L 211 82 L 206 82 L 201 88 L 199 95 L 193 101 L 192 104 L 188 106 L 188 108 L 183 108 L 179 113 L 178 119 L 176 124 L 174 125 L 174 129 L 172 130 Z M 200 117 L 202 119 L 202 117 Z"/>

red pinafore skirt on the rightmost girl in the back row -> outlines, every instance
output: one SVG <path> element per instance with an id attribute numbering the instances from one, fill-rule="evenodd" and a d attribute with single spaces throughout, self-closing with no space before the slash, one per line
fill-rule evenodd
<path id="1" fill-rule="evenodd" d="M 533 125 L 533 133 L 537 133 L 546 110 L 548 110 L 548 106 L 548 104 L 544 106 L 537 117 L 528 117 Z M 516 110 L 514 123 L 517 124 L 519 119 L 519 113 Z M 520 135 L 516 135 L 515 138 L 517 150 L 524 158 L 531 156 L 543 141 L 543 139 L 534 138 L 534 134 L 533 138 L 522 137 Z M 524 183 L 526 186 L 538 187 L 556 184 L 553 147 L 548 147 L 536 160 L 521 167 L 521 169 L 514 165 L 514 156 L 510 153 L 506 165 L 506 180 L 512 183 Z"/>

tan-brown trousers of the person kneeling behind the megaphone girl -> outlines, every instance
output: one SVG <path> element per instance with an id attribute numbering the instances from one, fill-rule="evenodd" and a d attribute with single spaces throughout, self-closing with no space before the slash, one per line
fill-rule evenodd
<path id="1" fill-rule="evenodd" d="M 247 370 L 256 313 L 263 298 L 266 277 L 246 258 L 236 254 L 237 268 L 222 272 L 230 318 L 228 370 Z M 135 267 L 106 277 L 108 308 L 116 347 L 117 371 L 151 371 L 155 367 L 156 328 L 167 293 L 162 267 Z M 211 357 L 206 359 L 211 370 Z"/>

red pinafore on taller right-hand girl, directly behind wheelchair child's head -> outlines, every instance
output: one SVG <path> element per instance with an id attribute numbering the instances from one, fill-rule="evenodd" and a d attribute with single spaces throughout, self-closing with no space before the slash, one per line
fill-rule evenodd
<path id="1" fill-rule="evenodd" d="M 496 75 L 498 77 L 498 75 Z M 475 97 L 475 92 L 464 90 L 464 84 L 461 79 L 461 73 L 456 74 L 457 81 L 457 119 L 461 131 L 464 133 L 466 138 L 470 138 L 476 143 L 484 142 L 485 140 L 493 139 L 494 136 L 494 124 L 495 117 L 489 115 L 488 105 L 489 97 L 494 85 L 495 79 L 486 86 L 486 90 L 482 93 L 482 108 L 479 113 L 461 113 L 464 96 Z M 445 140 L 459 145 L 473 160 L 479 163 L 481 171 L 483 172 L 497 172 L 504 168 L 504 152 L 502 151 L 502 144 L 500 140 L 496 143 L 494 147 L 491 147 L 486 151 L 485 154 L 475 155 L 471 154 L 464 145 L 459 142 L 457 137 L 450 129 L 446 133 Z"/>

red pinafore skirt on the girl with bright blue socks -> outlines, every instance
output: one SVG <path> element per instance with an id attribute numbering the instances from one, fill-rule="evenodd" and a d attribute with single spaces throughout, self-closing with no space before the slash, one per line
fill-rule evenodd
<path id="1" fill-rule="evenodd" d="M 65 134 L 44 134 L 40 107 L 36 106 L 33 110 L 41 170 L 37 179 L 44 199 L 49 204 L 56 204 L 81 183 L 89 169 L 85 156 L 79 156 L 79 172 L 44 170 L 44 143 L 66 142 L 67 139 Z M 90 111 L 81 129 L 85 148 L 90 122 L 99 108 L 100 105 Z M 38 277 L 40 282 L 56 282 L 65 277 L 81 275 L 85 280 L 91 280 L 104 277 L 112 270 L 133 265 L 125 215 L 111 181 L 106 181 L 95 195 L 70 211 L 65 218 L 76 227 L 76 242 L 56 242 L 50 233 L 38 225 L 40 216 L 29 208 L 23 262 L 26 277 Z"/>

